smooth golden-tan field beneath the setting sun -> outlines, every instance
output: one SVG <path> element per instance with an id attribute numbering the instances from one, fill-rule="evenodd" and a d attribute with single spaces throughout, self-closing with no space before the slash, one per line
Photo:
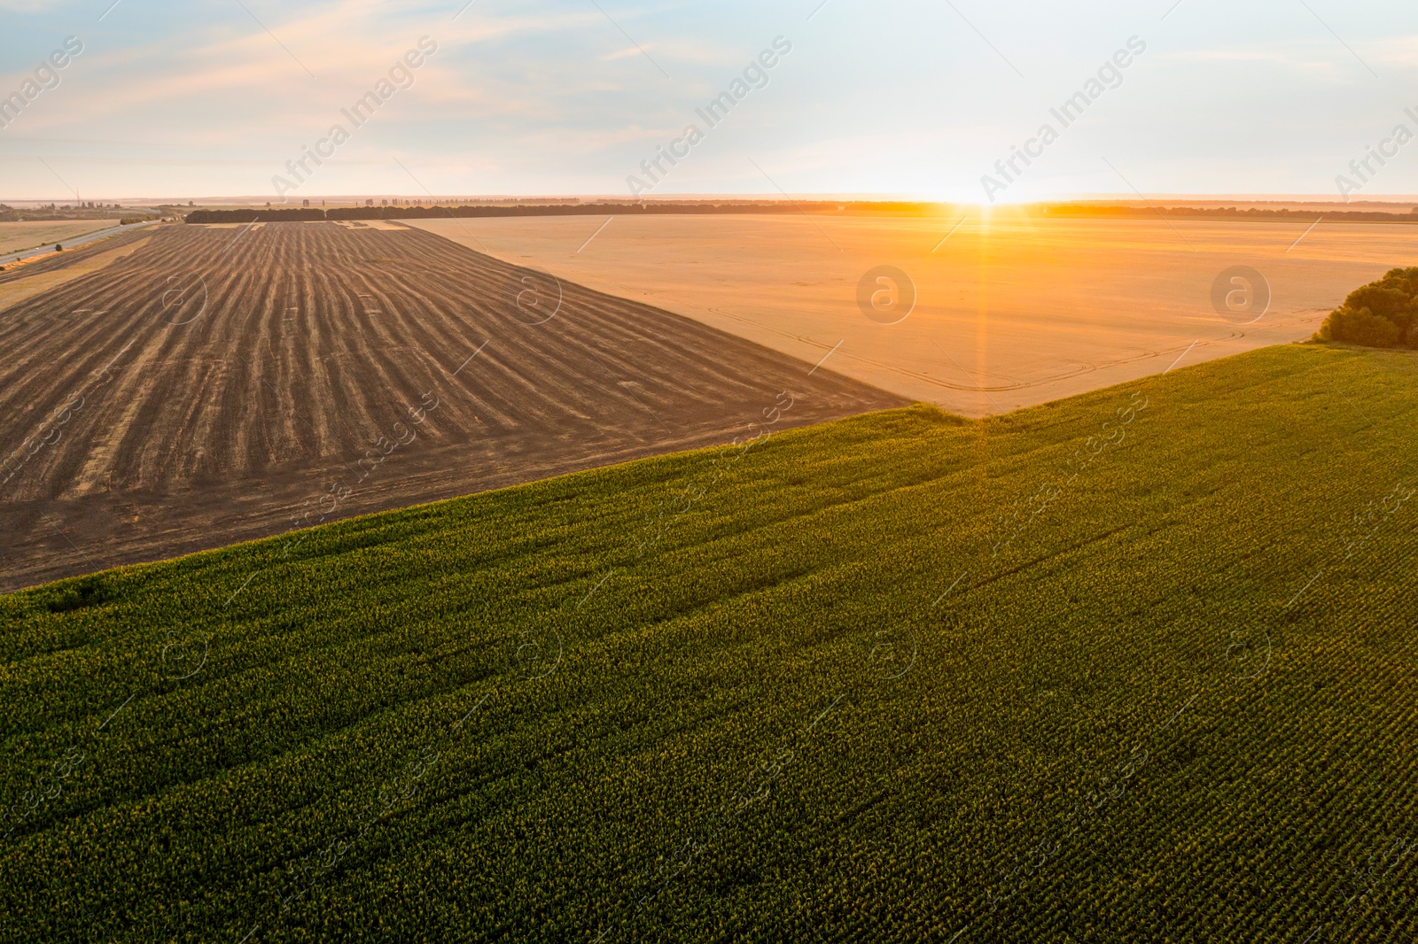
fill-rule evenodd
<path id="1" fill-rule="evenodd" d="M 1305 235 L 1296 224 L 1004 213 L 956 230 L 959 218 L 664 215 L 615 217 L 587 244 L 603 223 L 410 225 L 808 363 L 832 352 L 825 366 L 842 374 L 973 417 L 1160 373 L 1178 357 L 1309 337 L 1350 291 L 1418 257 L 1418 225 L 1402 224 L 1320 223 Z M 858 282 L 878 265 L 915 282 L 902 322 L 858 308 Z M 1254 266 L 1273 293 L 1251 325 L 1211 303 L 1235 265 Z"/>

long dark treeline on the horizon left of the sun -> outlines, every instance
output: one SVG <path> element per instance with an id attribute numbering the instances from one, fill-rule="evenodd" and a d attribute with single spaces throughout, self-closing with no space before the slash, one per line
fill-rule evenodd
<path id="1" fill-rule="evenodd" d="M 332 207 L 267 210 L 193 210 L 187 223 L 298 223 L 308 220 L 427 220 L 434 217 L 635 217 L 657 214 L 713 213 L 798 213 L 869 211 L 923 213 L 932 204 L 920 203 L 839 203 L 839 201 L 763 201 L 763 203 L 563 203 L 537 206 L 457 206 L 457 207 Z"/>

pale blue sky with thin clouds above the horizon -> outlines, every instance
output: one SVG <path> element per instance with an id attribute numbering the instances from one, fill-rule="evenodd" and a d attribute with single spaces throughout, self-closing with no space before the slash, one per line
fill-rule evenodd
<path id="1" fill-rule="evenodd" d="M 465 3 L 0 0 L 0 201 L 1418 193 L 1411 0 Z"/>

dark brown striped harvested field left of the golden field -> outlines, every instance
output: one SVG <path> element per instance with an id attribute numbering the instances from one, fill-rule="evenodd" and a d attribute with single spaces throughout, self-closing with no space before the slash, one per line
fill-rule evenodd
<path id="1" fill-rule="evenodd" d="M 0 310 L 0 590 L 905 403 L 400 225 L 143 235 Z"/>

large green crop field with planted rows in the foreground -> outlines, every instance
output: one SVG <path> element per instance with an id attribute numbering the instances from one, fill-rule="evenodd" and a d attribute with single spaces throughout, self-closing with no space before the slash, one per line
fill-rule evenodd
<path id="1" fill-rule="evenodd" d="M 1411 941 L 1415 393 L 1268 349 L 3 597 L 0 938 Z"/>

